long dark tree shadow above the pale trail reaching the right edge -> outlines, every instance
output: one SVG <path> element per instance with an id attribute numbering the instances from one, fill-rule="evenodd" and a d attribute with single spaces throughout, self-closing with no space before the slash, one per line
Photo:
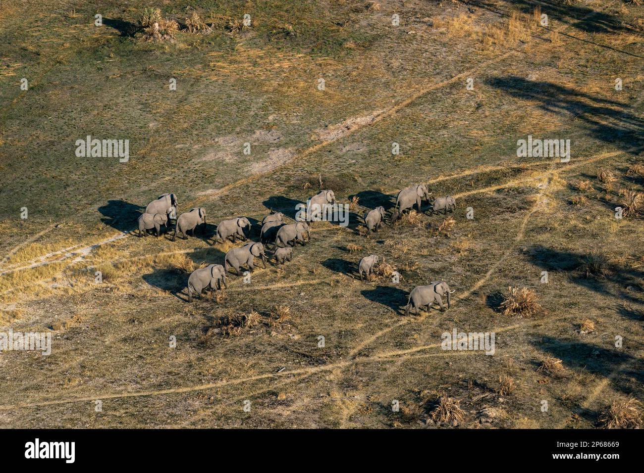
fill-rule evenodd
<path id="1" fill-rule="evenodd" d="M 513 97 L 536 101 L 538 107 L 549 113 L 580 120 L 591 136 L 619 149 L 644 146 L 644 120 L 630 113 L 628 104 L 594 97 L 551 82 L 534 82 L 516 76 L 493 77 L 488 83 Z M 565 139 L 565 136 L 545 138 Z M 574 143 L 571 145 L 574 147 Z M 638 154 L 638 151 L 631 153 Z"/>

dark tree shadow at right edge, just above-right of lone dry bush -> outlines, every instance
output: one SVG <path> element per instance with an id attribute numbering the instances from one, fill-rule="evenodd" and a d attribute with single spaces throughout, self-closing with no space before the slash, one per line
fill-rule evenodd
<path id="1" fill-rule="evenodd" d="M 585 260 L 587 254 L 534 246 L 526 252 L 526 255 L 545 271 L 567 272 L 569 281 L 600 295 L 618 297 L 636 304 L 644 303 L 642 292 L 637 290 L 639 280 L 644 277 L 643 271 L 607 262 L 603 264 L 603 269 L 608 271 L 607 274 L 587 276 L 582 271 L 583 264 L 587 262 Z M 625 288 L 629 286 L 632 291 L 627 292 Z M 637 311 L 626 310 L 621 314 L 629 317 L 632 315 L 630 318 L 639 319 Z"/>

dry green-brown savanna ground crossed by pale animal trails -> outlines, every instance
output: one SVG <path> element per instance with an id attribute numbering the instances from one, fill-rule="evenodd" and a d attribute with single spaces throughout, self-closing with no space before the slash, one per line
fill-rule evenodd
<path id="1" fill-rule="evenodd" d="M 146 7 L 178 20 L 173 41 L 142 40 Z M 184 30 L 193 12 L 211 32 Z M 244 14 L 250 28 L 229 26 Z M 458 427 L 600 427 L 643 398 L 643 215 L 614 212 L 644 189 L 643 15 L 621 0 L 3 1 L 1 331 L 53 339 L 50 356 L 0 355 L 0 426 L 452 427 L 431 416 L 443 396 Z M 129 139 L 129 162 L 77 158 L 88 134 Z M 570 162 L 517 158 L 529 134 L 570 139 Z M 248 216 L 256 238 L 320 179 L 359 198 L 348 228 L 317 223 L 291 263 L 187 304 L 189 272 L 232 247 L 214 224 Z M 455 213 L 362 236 L 358 216 L 418 182 Z M 205 207 L 205 237 L 128 234 L 164 192 Z M 357 278 L 371 253 L 399 284 Z M 452 308 L 405 317 L 437 279 Z M 510 286 L 542 309 L 505 315 Z M 494 332 L 495 355 L 441 349 L 453 328 Z"/>

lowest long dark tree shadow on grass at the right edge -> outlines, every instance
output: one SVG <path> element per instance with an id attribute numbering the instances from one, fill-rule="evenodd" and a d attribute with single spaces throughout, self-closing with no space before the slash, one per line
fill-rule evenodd
<path id="1" fill-rule="evenodd" d="M 624 353 L 621 349 L 607 349 L 588 342 L 552 337 L 542 337 L 532 340 L 531 343 L 547 355 L 562 360 L 565 368 L 587 371 L 603 378 L 612 376 L 611 387 L 622 393 L 632 394 L 639 391 L 644 383 L 644 361 Z M 641 344 L 639 346 L 641 348 Z M 581 406 L 578 406 L 578 414 L 588 420 L 596 420 L 592 411 Z"/>

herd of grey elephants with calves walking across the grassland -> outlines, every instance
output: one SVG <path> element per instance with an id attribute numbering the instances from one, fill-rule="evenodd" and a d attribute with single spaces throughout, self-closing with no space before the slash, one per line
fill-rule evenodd
<path id="1" fill-rule="evenodd" d="M 392 211 L 392 223 L 399 219 L 405 210 L 412 210 L 414 205 L 421 212 L 421 203 L 422 201 L 430 201 L 430 194 L 431 192 L 428 191 L 427 186 L 424 184 L 412 185 L 401 190 L 397 195 L 396 205 Z M 336 196 L 332 190 L 322 190 L 316 196 L 310 198 L 308 203 L 308 208 L 315 210 L 307 212 L 306 220 L 315 221 L 319 220 L 321 216 L 320 209 L 324 209 L 325 205 L 336 203 Z M 313 203 L 317 205 L 312 205 Z M 447 213 L 455 210 L 456 201 L 453 197 L 447 196 L 434 199 L 430 205 L 432 213 L 440 210 Z M 187 239 L 190 231 L 194 236 L 195 230 L 199 225 L 203 225 L 202 233 L 205 233 L 206 211 L 203 207 L 195 207 L 180 215 L 177 209 L 178 202 L 175 194 L 163 194 L 151 201 L 147 205 L 144 214 L 138 218 L 138 236 L 146 236 L 148 231 L 155 230 L 158 237 L 160 227 L 163 225 L 164 231 L 167 232 L 170 221 L 173 218 L 176 221 L 172 241 L 175 241 L 177 233 L 180 233 L 183 239 Z M 385 216 L 386 213 L 382 206 L 365 213 L 363 221 L 367 229 L 367 236 L 371 232 L 377 232 L 382 227 Z M 221 290 L 222 285 L 227 288 L 227 277 L 231 272 L 231 268 L 235 269 L 237 275 L 241 274 L 242 266 L 247 266 L 252 271 L 255 267 L 255 258 L 259 258 L 263 268 L 266 268 L 266 261 L 269 256 L 265 253 L 265 245 L 269 245 L 269 243 L 273 245 L 271 257 L 274 258 L 275 264 L 285 264 L 285 261 L 291 261 L 296 243 L 305 245 L 310 241 L 310 227 L 307 221 L 287 223 L 281 212 L 271 212 L 261 221 L 260 241 L 258 242 L 249 241 L 249 236 L 244 231 L 247 230 L 248 235 L 251 233 L 251 222 L 248 218 L 238 217 L 221 221 L 216 228 L 215 242 L 223 243 L 223 241 L 231 239 L 232 243 L 236 243 L 237 239 L 240 239 L 247 243 L 229 250 L 223 259 L 223 265 L 209 264 L 205 268 L 194 270 L 188 278 L 188 301 L 192 301 L 193 294 L 196 294 L 201 299 L 205 290 Z M 358 263 L 360 279 L 365 279 L 365 277 L 368 279 L 378 263 L 378 255 L 372 254 L 363 257 Z M 450 308 L 450 295 L 453 292 L 444 281 L 434 281 L 427 286 L 417 286 L 409 295 L 405 315 L 408 315 L 410 309 L 413 309 L 414 313 L 418 313 L 424 306 L 429 310 L 434 302 L 439 304 L 440 310 L 445 310 L 444 297 L 447 298 L 447 308 Z"/>

